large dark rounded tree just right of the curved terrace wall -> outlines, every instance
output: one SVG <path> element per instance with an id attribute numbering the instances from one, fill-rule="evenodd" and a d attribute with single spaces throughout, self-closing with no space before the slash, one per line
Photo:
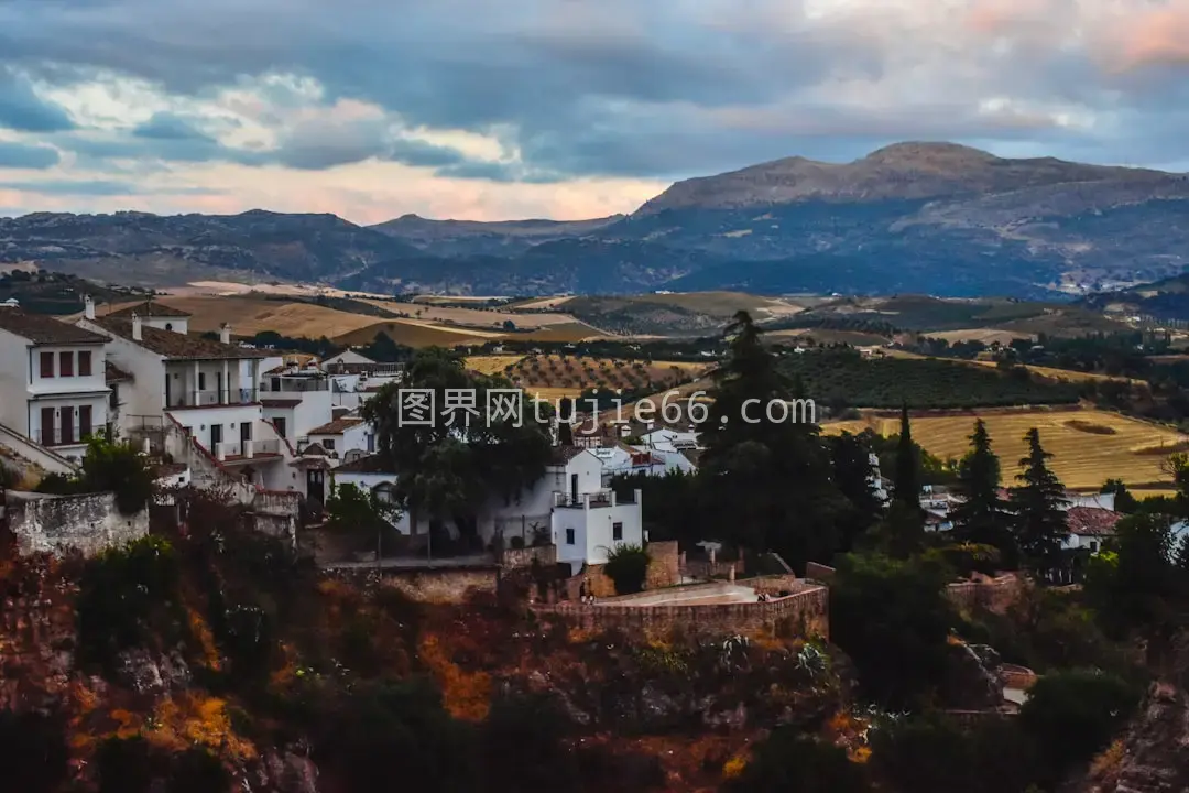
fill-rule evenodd
<path id="1" fill-rule="evenodd" d="M 946 583 L 945 567 L 929 560 L 841 559 L 830 586 L 831 640 L 855 662 L 874 701 L 913 707 L 929 700 L 957 622 Z"/>

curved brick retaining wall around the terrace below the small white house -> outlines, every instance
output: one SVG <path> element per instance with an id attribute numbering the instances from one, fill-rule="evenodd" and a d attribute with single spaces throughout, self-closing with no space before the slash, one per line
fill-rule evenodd
<path id="1" fill-rule="evenodd" d="M 772 632 L 829 638 L 829 592 L 822 586 L 800 584 L 799 587 L 800 591 L 788 597 L 767 603 L 649 606 L 629 605 L 616 598 L 614 602 L 594 604 L 536 606 L 535 610 L 564 616 L 586 630 L 667 634 L 677 629 L 709 636 Z"/>

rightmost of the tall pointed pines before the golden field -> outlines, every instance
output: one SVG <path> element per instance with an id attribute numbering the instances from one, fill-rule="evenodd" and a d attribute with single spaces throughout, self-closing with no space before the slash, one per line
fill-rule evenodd
<path id="1" fill-rule="evenodd" d="M 1038 569 L 1061 566 L 1061 546 L 1069 535 L 1065 512 L 1065 487 L 1048 460 L 1052 457 L 1040 446 L 1040 433 L 1032 428 L 1024 434 L 1028 445 L 1027 457 L 1020 460 L 1023 470 L 1015 478 L 1020 483 L 1011 492 L 1013 533 L 1025 559 Z"/>

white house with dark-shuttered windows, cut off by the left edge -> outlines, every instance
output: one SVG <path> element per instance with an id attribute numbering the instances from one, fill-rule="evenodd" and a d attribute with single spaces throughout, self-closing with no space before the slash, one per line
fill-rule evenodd
<path id="1" fill-rule="evenodd" d="M 107 338 L 15 306 L 0 306 L 0 423 L 68 460 L 106 430 Z"/>

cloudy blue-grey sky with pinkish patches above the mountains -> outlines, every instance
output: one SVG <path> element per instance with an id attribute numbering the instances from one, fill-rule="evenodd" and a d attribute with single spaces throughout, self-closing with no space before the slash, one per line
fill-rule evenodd
<path id="1" fill-rule="evenodd" d="M 0 215 L 596 218 L 900 140 L 1189 171 L 1189 0 L 0 0 Z"/>

